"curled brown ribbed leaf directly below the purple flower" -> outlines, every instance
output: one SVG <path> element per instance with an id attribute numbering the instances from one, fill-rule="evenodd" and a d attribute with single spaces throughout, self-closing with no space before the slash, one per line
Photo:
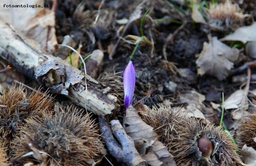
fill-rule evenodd
<path id="1" fill-rule="evenodd" d="M 152 166 L 176 165 L 174 156 L 168 152 L 166 146 L 158 141 L 158 134 L 154 128 L 142 121 L 137 109 L 129 107 L 125 116 L 126 133 L 133 139 L 135 147 L 142 158 Z"/>

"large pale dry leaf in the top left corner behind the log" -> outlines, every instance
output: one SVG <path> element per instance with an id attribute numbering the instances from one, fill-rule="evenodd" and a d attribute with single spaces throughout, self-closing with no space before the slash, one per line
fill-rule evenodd
<path id="1" fill-rule="evenodd" d="M 0 20 L 14 25 L 26 37 L 38 42 L 43 50 L 53 53 L 57 49 L 55 12 L 49 10 L 47 6 L 44 8 L 43 0 L 1 1 L 0 5 L 28 5 L 28 7 L 3 7 L 0 11 Z"/>

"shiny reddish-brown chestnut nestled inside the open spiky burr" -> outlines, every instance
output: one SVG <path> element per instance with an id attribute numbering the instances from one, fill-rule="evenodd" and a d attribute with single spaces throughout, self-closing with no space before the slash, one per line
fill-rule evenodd
<path id="1" fill-rule="evenodd" d="M 199 148 L 202 155 L 210 159 L 212 154 L 212 142 L 208 138 L 202 137 L 197 139 L 197 147 Z"/>

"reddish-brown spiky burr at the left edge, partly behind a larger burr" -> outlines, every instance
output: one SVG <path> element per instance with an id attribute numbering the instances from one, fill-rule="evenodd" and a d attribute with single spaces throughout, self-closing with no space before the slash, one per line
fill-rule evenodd
<path id="1" fill-rule="evenodd" d="M 21 86 L 4 90 L 0 105 L 0 136 L 5 150 L 9 150 L 16 128 L 23 125 L 26 118 L 53 111 L 53 100 L 47 93 L 34 91 L 28 95 Z"/>

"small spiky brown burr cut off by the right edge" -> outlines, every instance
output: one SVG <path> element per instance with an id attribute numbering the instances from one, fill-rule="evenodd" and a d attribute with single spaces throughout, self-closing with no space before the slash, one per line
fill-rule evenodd
<path id="1" fill-rule="evenodd" d="M 245 117 L 236 133 L 237 143 L 240 148 L 244 144 L 256 150 L 256 116 Z"/>

